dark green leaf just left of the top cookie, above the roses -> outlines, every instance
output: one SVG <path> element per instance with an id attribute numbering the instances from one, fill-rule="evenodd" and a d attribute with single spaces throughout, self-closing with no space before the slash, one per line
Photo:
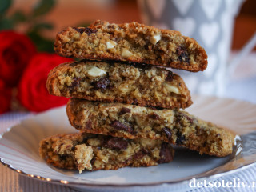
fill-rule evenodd
<path id="1" fill-rule="evenodd" d="M 54 41 L 42 37 L 41 34 L 38 34 L 36 31 L 31 31 L 27 34 L 32 42 L 37 46 L 39 52 L 48 52 L 54 53 Z"/>

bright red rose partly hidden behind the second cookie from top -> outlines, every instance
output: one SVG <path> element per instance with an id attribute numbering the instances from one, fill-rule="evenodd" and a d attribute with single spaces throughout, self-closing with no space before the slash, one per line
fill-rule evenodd
<path id="1" fill-rule="evenodd" d="M 57 54 L 36 54 L 22 74 L 18 85 L 18 100 L 30 111 L 40 112 L 66 104 L 67 98 L 50 95 L 46 89 L 47 76 L 55 66 L 70 62 Z"/>

